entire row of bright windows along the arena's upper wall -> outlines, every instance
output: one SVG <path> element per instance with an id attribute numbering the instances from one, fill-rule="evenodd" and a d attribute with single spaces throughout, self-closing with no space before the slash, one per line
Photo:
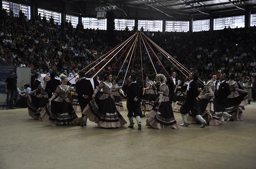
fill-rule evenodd
<path id="1" fill-rule="evenodd" d="M 9 10 L 10 8 L 14 11 L 14 16 L 19 17 L 20 10 L 23 11 L 25 16 L 30 20 L 30 6 L 25 6 L 22 4 L 12 3 L 9 1 L 2 1 L 3 8 Z M 61 23 L 61 13 L 48 11 L 45 9 L 38 8 L 38 14 L 41 14 L 41 17 L 53 18 L 55 24 Z M 66 15 L 66 20 L 71 21 L 73 28 L 76 28 L 76 25 L 79 22 L 79 18 L 71 15 Z M 132 30 L 135 20 L 120 20 L 115 19 L 115 29 L 116 30 L 125 30 L 126 26 L 129 30 Z M 84 28 L 95 28 L 100 30 L 107 30 L 107 19 L 98 20 L 97 18 L 82 17 L 82 23 Z M 210 20 L 197 20 L 193 21 L 193 31 L 208 31 L 210 28 Z M 213 20 L 213 30 L 224 29 L 225 26 L 230 26 L 230 28 L 244 28 L 244 15 L 235 16 L 235 17 L 223 17 Z M 251 14 L 250 16 L 250 25 L 256 25 L 256 14 Z M 143 27 L 144 31 L 163 31 L 163 21 L 162 20 L 138 20 L 138 29 Z M 189 21 L 166 21 L 165 31 L 168 32 L 187 32 L 189 31 Z"/>

